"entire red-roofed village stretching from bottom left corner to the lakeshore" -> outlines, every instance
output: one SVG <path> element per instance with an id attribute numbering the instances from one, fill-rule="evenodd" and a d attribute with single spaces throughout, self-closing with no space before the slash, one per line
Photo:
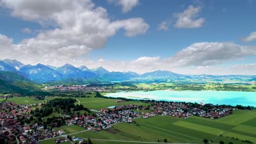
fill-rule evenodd
<path id="1" fill-rule="evenodd" d="M 58 121 L 65 120 L 65 125 L 78 125 L 85 130 L 100 131 L 113 127 L 113 124 L 120 122 L 133 123 L 136 118 L 149 118 L 157 115 L 172 116 L 178 118 L 188 118 L 190 116 L 200 116 L 205 118 L 219 118 L 230 115 L 235 107 L 214 106 L 203 103 L 197 107 L 193 107 L 192 103 L 174 103 L 174 102 L 154 102 L 148 106 L 138 105 L 117 105 L 111 108 L 103 108 L 101 111 L 92 115 L 65 115 L 58 118 Z M 40 108 L 41 104 L 37 107 Z M 1 137 L 6 139 L 8 143 L 38 143 L 39 140 L 50 139 L 65 134 L 65 130 L 55 130 L 57 123 L 48 127 L 43 122 L 34 123 L 33 111 L 36 107 L 31 105 L 17 105 L 9 101 L 1 103 L 0 123 Z M 21 121 L 22 119 L 22 121 Z M 73 141 L 82 139 L 73 137 Z M 58 139 L 56 143 L 66 140 Z"/>

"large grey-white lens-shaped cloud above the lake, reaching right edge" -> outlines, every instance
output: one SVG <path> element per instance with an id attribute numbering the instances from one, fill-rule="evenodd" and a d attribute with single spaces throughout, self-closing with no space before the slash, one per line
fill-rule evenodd
<path id="1" fill-rule="evenodd" d="M 234 43 L 194 43 L 169 59 L 174 65 L 214 65 L 246 56 L 255 56 L 256 46 Z"/>

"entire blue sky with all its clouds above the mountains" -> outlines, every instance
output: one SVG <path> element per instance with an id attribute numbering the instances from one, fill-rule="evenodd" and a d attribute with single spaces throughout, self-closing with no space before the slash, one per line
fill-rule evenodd
<path id="1" fill-rule="evenodd" d="M 138 73 L 255 73 L 256 1 L 127 1 L 0 0 L 3 58 Z"/>

